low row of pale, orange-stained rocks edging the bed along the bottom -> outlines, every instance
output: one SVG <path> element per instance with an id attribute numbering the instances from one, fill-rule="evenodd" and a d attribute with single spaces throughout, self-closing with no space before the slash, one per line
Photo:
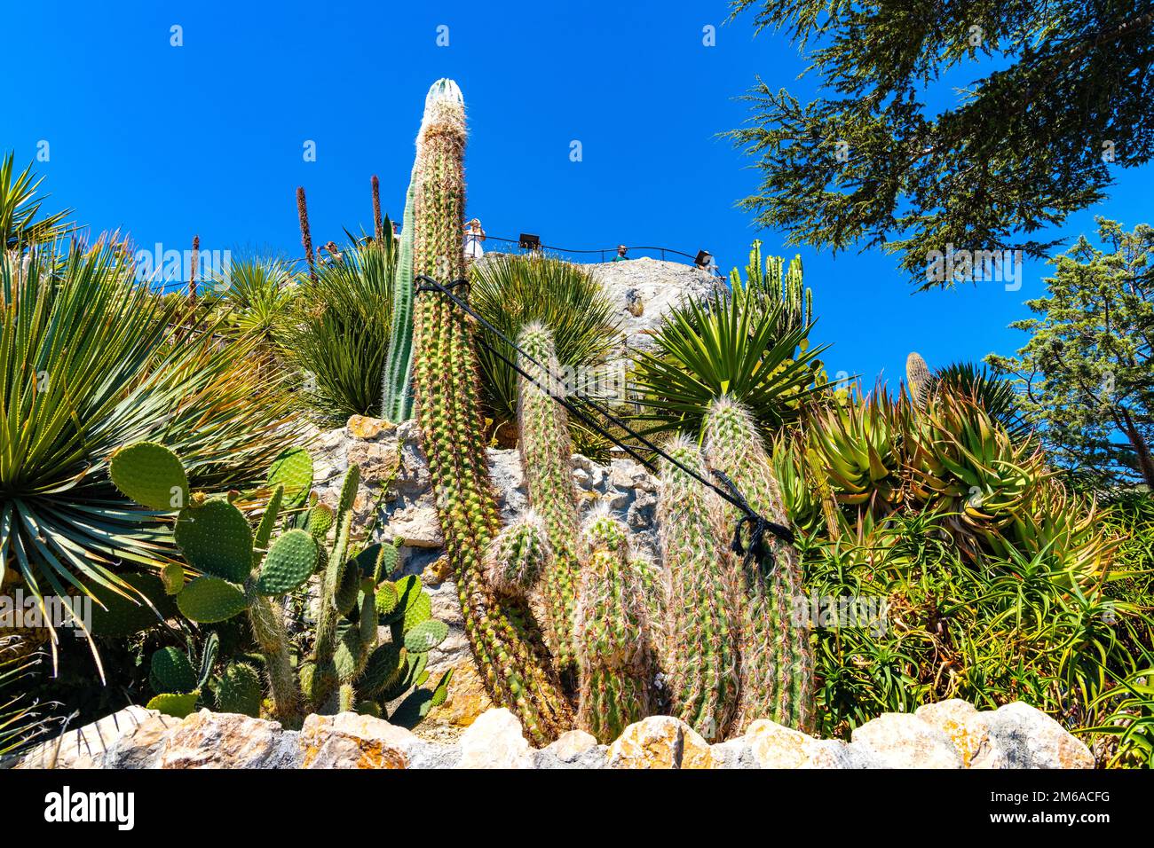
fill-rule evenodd
<path id="1" fill-rule="evenodd" d="M 887 713 L 849 742 L 772 721 L 709 744 L 684 722 L 653 715 L 610 745 L 570 730 L 534 749 L 508 710 L 487 710 L 456 740 L 430 741 L 355 713 L 275 721 L 202 710 L 183 720 L 128 707 L 46 742 L 18 768 L 1092 768 L 1080 741 L 1020 701 L 981 712 L 961 700 Z"/>

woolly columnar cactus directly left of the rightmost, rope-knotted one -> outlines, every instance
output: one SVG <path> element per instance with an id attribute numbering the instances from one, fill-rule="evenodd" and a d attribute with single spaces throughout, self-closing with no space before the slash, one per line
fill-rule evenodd
<path id="1" fill-rule="evenodd" d="M 669 456 L 705 476 L 697 445 L 674 438 Z M 661 467 L 658 520 L 669 572 L 666 667 L 670 708 L 713 742 L 737 710 L 741 618 L 734 609 L 733 563 L 718 534 L 720 498 L 677 465 Z"/>

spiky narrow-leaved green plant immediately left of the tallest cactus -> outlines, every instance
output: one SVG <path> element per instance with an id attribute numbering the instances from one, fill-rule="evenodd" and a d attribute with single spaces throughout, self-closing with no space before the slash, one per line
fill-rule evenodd
<path id="1" fill-rule="evenodd" d="M 278 333 L 304 399 L 325 422 L 381 410 L 381 373 L 389 351 L 396 249 L 353 243 L 339 261 L 305 279 Z"/>

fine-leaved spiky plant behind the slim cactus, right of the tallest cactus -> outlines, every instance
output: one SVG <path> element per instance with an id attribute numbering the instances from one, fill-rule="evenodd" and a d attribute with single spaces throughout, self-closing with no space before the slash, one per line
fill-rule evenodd
<path id="1" fill-rule="evenodd" d="M 490 254 L 472 269 L 470 300 L 486 321 L 508 338 L 533 322 L 552 328 L 562 367 L 597 368 L 621 340 L 613 301 L 580 265 L 550 256 Z M 517 420 L 517 372 L 514 350 L 488 328 L 478 347 L 481 391 L 494 427 Z M 499 355 L 500 354 L 500 355 Z M 578 450 L 592 441 L 570 422 Z"/>

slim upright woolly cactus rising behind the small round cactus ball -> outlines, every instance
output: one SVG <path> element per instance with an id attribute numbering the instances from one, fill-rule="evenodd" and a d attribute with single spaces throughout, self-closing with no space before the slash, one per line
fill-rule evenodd
<path id="1" fill-rule="evenodd" d="M 559 670 L 564 673 L 574 662 L 574 605 L 580 573 L 579 506 L 570 467 L 572 442 L 564 407 L 553 397 L 561 389 L 561 369 L 552 331 L 531 323 L 522 330 L 518 343 L 525 353 L 518 365 L 532 377 L 520 377 L 517 383 L 520 467 L 529 502 L 541 516 L 552 549 L 545 566 L 542 595 L 549 651 Z"/>

